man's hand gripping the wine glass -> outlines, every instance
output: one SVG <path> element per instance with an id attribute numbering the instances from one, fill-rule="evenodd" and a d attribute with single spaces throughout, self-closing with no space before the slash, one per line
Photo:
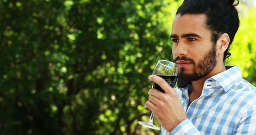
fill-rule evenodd
<path id="1" fill-rule="evenodd" d="M 150 75 L 148 79 L 157 83 L 164 89 L 165 93 L 154 88 L 150 89 L 148 91 L 148 101 L 146 101 L 145 105 L 155 114 L 162 127 L 170 132 L 179 123 L 187 119 L 180 99 L 175 89 L 170 87 L 161 77 Z"/>

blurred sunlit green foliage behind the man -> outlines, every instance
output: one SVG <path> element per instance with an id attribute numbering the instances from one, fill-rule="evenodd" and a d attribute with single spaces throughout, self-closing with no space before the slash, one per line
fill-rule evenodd
<path id="1" fill-rule="evenodd" d="M 138 121 L 182 1 L 0 0 L 0 134 L 159 134 Z M 227 64 L 256 85 L 256 1 L 237 8 Z"/>

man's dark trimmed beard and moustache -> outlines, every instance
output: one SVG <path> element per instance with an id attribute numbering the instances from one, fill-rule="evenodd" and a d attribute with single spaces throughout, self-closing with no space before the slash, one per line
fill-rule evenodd
<path id="1" fill-rule="evenodd" d="M 216 45 L 212 46 L 212 50 L 210 50 L 204 57 L 199 60 L 198 64 L 195 64 L 194 60 L 186 57 L 177 57 L 174 62 L 177 60 L 186 60 L 192 62 L 194 67 L 192 69 L 192 73 L 186 73 L 184 71 L 184 67 L 181 67 L 178 72 L 178 78 L 184 81 L 196 81 L 206 76 L 217 64 L 217 56 L 216 56 Z"/>

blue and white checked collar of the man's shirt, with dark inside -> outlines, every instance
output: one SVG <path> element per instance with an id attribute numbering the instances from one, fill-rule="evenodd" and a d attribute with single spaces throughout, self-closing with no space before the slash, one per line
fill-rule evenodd
<path id="1" fill-rule="evenodd" d="M 225 71 L 218 73 L 217 75 L 214 75 L 211 78 L 216 80 L 224 89 L 224 91 L 227 92 L 236 82 L 242 79 L 242 74 L 238 65 L 225 67 Z M 178 78 L 178 87 L 183 88 L 190 84 L 191 82 L 183 81 L 182 79 Z"/>

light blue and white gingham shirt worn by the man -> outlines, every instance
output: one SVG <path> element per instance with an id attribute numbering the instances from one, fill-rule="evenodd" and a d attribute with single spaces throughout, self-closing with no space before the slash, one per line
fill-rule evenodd
<path id="1" fill-rule="evenodd" d="M 242 79 L 239 66 L 226 69 L 207 79 L 202 95 L 190 105 L 190 84 L 180 87 L 178 82 L 187 119 L 170 133 L 161 127 L 161 135 L 256 135 L 256 87 Z"/>

